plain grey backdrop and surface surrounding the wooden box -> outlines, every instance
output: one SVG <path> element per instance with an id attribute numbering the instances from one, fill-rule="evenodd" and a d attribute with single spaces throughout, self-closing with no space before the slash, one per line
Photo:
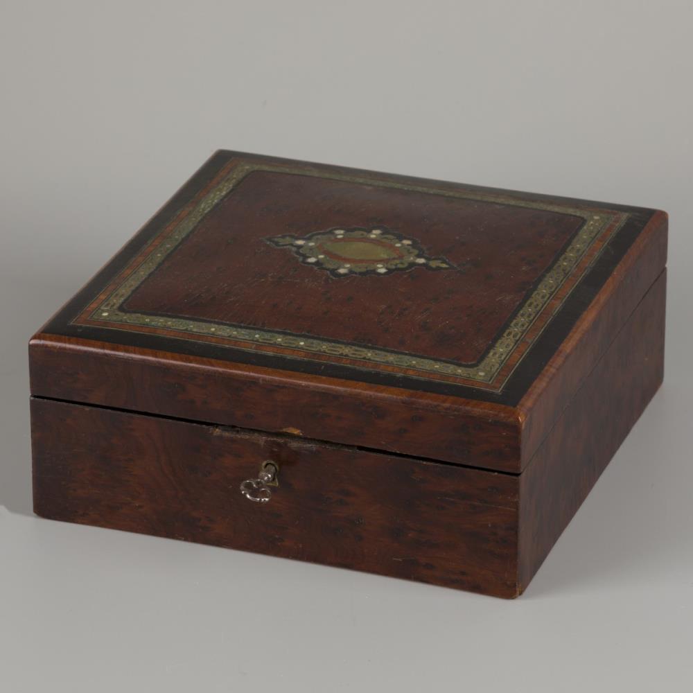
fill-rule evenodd
<path id="1" fill-rule="evenodd" d="M 0 12 L 0 690 L 691 689 L 689 0 Z M 221 147 L 669 211 L 665 385 L 523 598 L 30 516 L 28 337 Z"/>

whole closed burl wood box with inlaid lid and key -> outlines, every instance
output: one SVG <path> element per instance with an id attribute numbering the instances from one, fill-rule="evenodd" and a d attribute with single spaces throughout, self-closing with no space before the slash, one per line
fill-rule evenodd
<path id="1" fill-rule="evenodd" d="M 660 385 L 666 246 L 220 151 L 30 341 L 35 512 L 516 597 Z"/>

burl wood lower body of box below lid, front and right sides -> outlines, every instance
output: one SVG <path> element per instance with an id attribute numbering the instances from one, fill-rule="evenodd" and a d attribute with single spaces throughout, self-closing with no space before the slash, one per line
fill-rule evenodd
<path id="1" fill-rule="evenodd" d="M 660 385 L 664 305 L 665 273 L 519 475 L 33 398 L 35 511 L 516 597 Z"/>

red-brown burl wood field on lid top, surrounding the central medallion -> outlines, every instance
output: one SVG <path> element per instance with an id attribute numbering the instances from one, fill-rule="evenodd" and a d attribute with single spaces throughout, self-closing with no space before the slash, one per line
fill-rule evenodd
<path id="1" fill-rule="evenodd" d="M 255 171 L 125 307 L 474 363 L 582 222 L 553 211 Z M 335 281 L 262 240 L 383 225 L 419 240 L 453 269 Z"/>

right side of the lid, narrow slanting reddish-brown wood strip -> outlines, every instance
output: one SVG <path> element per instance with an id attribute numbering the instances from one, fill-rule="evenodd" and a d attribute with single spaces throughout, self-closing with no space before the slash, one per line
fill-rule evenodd
<path id="1" fill-rule="evenodd" d="M 666 261 L 667 215 L 658 212 L 520 401 L 520 470 L 604 356 Z"/>

